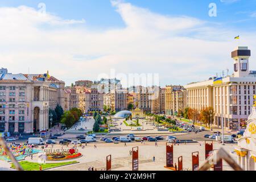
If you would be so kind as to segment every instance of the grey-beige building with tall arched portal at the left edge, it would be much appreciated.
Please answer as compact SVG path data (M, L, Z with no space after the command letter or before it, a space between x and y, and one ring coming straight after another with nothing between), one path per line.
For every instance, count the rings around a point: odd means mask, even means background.
M0 132L34 133L48 129L49 109L64 107L63 81L46 74L0 74Z

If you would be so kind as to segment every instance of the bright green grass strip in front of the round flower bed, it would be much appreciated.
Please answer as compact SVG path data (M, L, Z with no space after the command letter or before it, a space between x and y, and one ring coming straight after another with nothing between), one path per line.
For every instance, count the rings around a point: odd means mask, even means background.
M50 164L41 164L41 165L42 165L42 169L48 169L48 168L52 168L52 167L60 167L60 166L64 166L67 164L75 164L75 163L77 163L77 162L71 161L71 162L65 162L65 163L50 163ZM24 171L39 171L39 167L40 167L39 163L31 163L28 161L22 161L22 162L19 162L19 164L20 164L20 166L22 166ZM15 169L15 166L13 163L11 163L11 168Z

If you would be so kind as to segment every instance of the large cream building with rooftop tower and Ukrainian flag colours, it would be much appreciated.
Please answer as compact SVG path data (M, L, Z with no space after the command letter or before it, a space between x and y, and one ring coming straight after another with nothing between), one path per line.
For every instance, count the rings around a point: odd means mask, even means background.
M255 72L249 72L250 55L247 47L238 47L232 52L232 76L214 77L185 85L188 106L199 111L212 106L216 113L213 122L215 126L221 127L223 118L225 129L245 129L256 86Z

